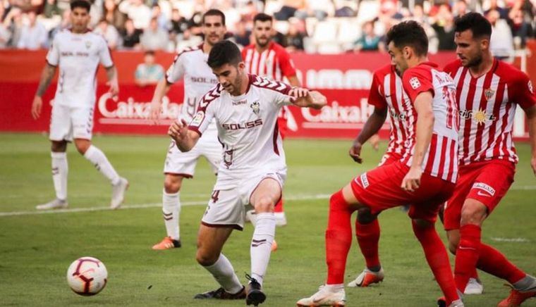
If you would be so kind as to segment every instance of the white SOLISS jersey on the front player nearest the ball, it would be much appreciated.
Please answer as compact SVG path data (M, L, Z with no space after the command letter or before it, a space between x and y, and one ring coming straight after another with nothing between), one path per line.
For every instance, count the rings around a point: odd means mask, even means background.
M218 84L203 96L188 128L202 134L216 120L224 158L214 189L231 189L259 174L286 173L277 114L291 104L290 90L283 82L249 75L243 95L231 96Z

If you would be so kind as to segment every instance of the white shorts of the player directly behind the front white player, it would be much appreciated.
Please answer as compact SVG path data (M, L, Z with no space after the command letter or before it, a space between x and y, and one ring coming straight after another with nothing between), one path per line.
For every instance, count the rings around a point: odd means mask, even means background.
M171 141L164 163L164 174L181 175L186 178L193 177L195 165L200 156L205 156L214 174L218 173L218 166L221 161L221 144L217 137L211 135L203 136L199 139L192 150L180 151L175 142Z

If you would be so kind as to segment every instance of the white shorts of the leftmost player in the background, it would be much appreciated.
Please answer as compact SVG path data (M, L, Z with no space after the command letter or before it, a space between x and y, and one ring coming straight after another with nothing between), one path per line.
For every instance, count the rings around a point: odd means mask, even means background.
M92 130L93 107L52 106L49 135L52 141L91 139Z

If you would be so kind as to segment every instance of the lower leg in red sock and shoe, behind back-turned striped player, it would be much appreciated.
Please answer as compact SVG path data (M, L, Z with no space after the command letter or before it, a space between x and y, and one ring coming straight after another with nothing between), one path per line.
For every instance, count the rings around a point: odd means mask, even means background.
M365 258L366 268L348 287L368 287L384 280L384 271L379 263L379 223L377 215L370 213L370 208L360 208L355 218L355 237Z

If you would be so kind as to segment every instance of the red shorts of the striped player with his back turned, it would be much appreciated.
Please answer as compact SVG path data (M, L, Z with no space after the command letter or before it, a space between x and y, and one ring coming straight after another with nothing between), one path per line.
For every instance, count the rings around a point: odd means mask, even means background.
M352 180L353 194L359 203L370 208L372 214L396 206L410 205L410 218L434 223L439 208L451 196L454 184L423 173L419 189L406 192L401 184L408 170L409 167L400 161L374 168Z

